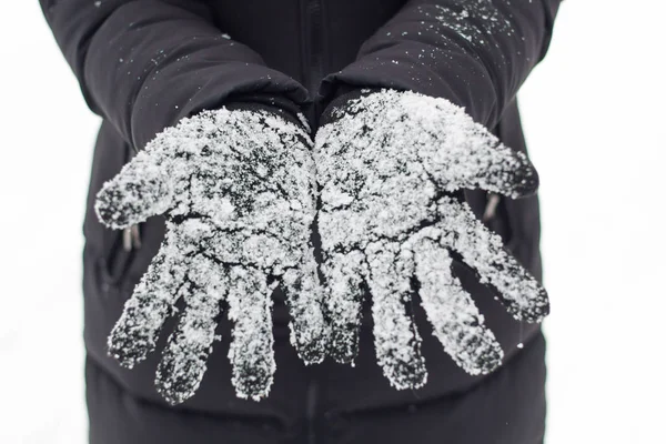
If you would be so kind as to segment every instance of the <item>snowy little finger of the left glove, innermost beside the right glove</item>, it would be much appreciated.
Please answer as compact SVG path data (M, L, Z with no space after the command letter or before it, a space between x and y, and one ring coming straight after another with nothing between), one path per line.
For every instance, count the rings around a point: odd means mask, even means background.
M284 273L283 283L291 315L291 342L305 364L320 363L326 353L327 325L312 249L304 254L301 269Z

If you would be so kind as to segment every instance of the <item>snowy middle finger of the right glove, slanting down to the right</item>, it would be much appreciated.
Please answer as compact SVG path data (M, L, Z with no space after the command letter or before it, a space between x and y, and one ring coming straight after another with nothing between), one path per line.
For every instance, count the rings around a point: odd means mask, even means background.
M504 353L484 324L474 301L451 272L448 252L430 239L415 248L416 278L423 309L444 351L465 372L487 374Z

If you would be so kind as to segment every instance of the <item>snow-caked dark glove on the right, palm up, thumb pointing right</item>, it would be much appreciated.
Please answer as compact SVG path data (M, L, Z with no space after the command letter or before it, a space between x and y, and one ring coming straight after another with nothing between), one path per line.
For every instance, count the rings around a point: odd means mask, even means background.
M446 353L471 374L488 373L503 351L452 274L452 258L493 286L516 320L541 321L548 299L457 198L462 189L531 194L536 171L444 99L392 90L359 95L334 102L315 138L330 353L353 362L366 289L384 375L396 389L425 384L410 306L418 293Z

